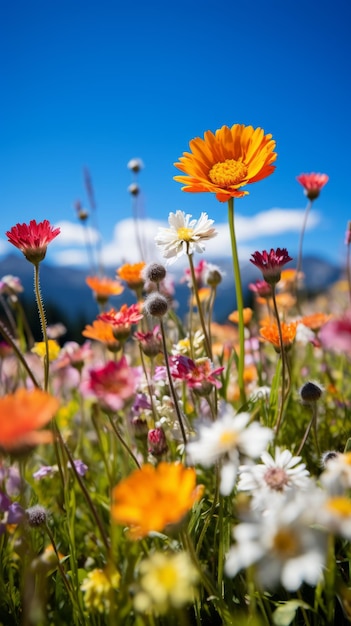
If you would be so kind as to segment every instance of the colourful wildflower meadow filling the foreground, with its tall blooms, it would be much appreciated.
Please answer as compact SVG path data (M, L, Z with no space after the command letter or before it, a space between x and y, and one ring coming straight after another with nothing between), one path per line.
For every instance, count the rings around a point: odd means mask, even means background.
M243 285L234 202L244 210L250 185L274 175L275 141L234 124L188 149L180 202L211 193L228 210L224 323L206 213L170 213L154 260L136 219L140 261L86 278L97 316L80 342L46 320L40 268L60 229L32 219L6 233L33 266L42 336L21 277L2 277L2 626L351 623L351 229L345 279L306 297L304 232L328 176L297 176L298 253L284 241L252 250L257 280ZM137 203L142 163L128 167ZM76 208L84 228L89 211ZM182 316L169 280L181 257Z

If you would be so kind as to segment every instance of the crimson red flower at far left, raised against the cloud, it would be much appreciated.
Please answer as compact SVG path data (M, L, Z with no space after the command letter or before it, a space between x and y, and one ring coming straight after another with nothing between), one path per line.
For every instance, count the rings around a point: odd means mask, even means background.
M31 263L37 265L45 258L46 249L50 241L60 234L59 228L53 228L48 220L37 222L31 220L29 224L16 224L8 230L8 241L21 250Z

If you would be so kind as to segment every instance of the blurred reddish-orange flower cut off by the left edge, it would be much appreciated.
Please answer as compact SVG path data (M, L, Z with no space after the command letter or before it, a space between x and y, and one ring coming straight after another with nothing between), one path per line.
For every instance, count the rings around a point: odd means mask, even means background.
M51 432L37 429L51 420L59 404L40 389L21 388L0 398L0 448L15 451L51 441Z

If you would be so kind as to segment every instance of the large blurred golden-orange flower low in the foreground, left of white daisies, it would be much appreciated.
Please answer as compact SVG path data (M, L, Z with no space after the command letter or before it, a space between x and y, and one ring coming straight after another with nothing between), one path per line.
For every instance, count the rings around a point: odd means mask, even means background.
M179 522L201 495L193 468L181 463L146 464L114 488L112 517L130 526L131 537L139 539Z

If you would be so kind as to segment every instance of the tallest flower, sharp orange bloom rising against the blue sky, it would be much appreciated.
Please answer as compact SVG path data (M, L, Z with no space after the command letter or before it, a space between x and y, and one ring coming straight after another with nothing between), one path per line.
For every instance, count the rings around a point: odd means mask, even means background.
M184 152L174 164L186 176L174 180L185 184L183 191L210 191L221 202L247 195L241 187L266 178L275 169L275 141L262 128L222 126L215 134L208 130L204 139L192 139L189 146L191 152Z

